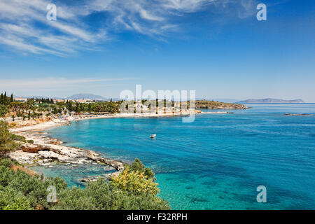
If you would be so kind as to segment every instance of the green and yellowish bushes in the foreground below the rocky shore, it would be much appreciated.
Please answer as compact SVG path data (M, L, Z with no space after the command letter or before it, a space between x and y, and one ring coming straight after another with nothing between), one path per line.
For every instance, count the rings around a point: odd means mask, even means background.
M157 196L153 177L142 172L139 160L111 181L98 179L85 189L67 188L59 177L45 179L20 170L14 172L10 169L13 165L16 163L0 158L0 209L169 209L167 201ZM56 188L55 203L47 202L48 186Z

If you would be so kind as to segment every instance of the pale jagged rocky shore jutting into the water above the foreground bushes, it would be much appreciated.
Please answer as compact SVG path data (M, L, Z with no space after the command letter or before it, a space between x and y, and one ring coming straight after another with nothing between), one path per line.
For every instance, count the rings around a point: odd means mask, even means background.
M62 141L45 137L41 132L36 130L36 127L34 127L34 129L35 130L33 130L33 132L30 132L30 130L11 130L14 134L25 137L27 140L27 143L22 144L17 151L8 153L10 158L17 160L20 164L39 165L52 168L52 164L55 164L55 162L73 165L88 165L92 162L98 162L116 169L116 172L104 174L104 176L102 176L103 179L109 179L112 175L118 175L125 168L123 162L103 158L98 153L83 148L63 146ZM94 181L98 177L99 176L94 176L92 178L88 178L88 180L80 180L82 182Z

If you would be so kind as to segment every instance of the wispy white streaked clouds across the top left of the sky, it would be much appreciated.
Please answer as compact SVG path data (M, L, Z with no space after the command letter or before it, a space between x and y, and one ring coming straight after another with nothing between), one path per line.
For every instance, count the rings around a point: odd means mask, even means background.
M57 0L57 21L48 21L48 0L0 0L0 44L22 52L64 57L96 49L111 39L113 31L127 29L155 38L167 36L169 31L179 30L174 18L208 8L237 6L239 18L246 18L254 9L253 1L89 0L66 5L66 1ZM106 13L106 26L87 22L94 13Z

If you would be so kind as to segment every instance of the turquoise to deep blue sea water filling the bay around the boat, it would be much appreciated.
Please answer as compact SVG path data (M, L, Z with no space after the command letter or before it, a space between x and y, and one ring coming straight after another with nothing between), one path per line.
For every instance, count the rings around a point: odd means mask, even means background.
M68 146L130 162L157 174L172 209L315 209L315 104L248 104L233 114L81 120L48 130ZM232 111L232 110L229 110ZM150 134L157 134L150 139ZM108 167L105 167L107 169ZM36 167L69 186L104 167ZM258 186L267 203L258 203Z

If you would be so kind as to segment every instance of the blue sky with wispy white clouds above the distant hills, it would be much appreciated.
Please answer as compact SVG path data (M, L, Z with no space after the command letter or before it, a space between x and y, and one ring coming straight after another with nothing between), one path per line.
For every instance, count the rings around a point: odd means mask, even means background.
M57 20L48 20L55 3ZM258 21L258 3L267 20ZM0 92L315 102L315 2L0 0Z

